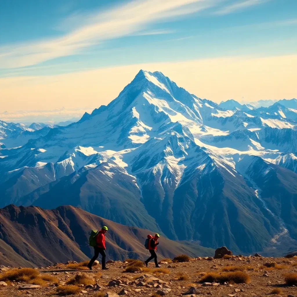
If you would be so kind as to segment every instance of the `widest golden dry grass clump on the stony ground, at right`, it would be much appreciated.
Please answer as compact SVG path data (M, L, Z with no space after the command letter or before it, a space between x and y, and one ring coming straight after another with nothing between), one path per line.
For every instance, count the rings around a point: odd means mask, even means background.
M208 272L200 279L200 282L235 282L236 284L247 284L249 281L249 275L243 271L223 272L222 274L218 274L217 272Z

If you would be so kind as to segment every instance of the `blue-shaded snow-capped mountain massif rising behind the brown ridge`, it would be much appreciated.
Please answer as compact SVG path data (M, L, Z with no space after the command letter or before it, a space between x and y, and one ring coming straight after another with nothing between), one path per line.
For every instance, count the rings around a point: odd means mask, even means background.
M297 100L219 105L141 70L66 127L6 133L0 207L60 205L235 253L297 249Z

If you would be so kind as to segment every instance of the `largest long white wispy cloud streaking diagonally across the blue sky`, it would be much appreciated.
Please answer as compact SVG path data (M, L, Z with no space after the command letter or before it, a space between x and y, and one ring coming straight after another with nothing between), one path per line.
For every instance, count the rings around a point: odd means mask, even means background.
M164 30L147 31L152 23L189 15L225 4L217 14L260 4L268 0L134 0L89 15L71 15L64 22L68 33L61 37L0 47L0 68L11 69L36 65L50 59L81 53L107 40L143 34L164 34ZM63 24L61 25L63 27ZM72 29L71 29L72 28Z

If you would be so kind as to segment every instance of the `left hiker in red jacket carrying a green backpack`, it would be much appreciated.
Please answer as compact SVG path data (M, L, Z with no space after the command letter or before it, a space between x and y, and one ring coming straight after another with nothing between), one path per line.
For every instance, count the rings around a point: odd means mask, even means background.
M92 265L94 264L95 260L98 258L99 254L102 256L102 269L106 270L108 269L105 266L105 233L108 231L108 228L106 226L103 226L100 231L98 230L92 230L91 235L89 237L89 245L91 247L94 247L94 257L91 259L87 267L92 270Z

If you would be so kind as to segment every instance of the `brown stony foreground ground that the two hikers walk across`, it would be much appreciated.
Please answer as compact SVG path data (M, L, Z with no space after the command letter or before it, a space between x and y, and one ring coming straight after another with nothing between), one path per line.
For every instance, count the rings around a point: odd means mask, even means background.
M112 262L112 261L111 261ZM272 263L272 264L271 264ZM231 256L230 259L196 258L189 262L170 263L164 261L162 268L154 269L153 263L149 268L141 268L140 272L124 272L129 266L128 262L115 261L108 263L109 270L101 270L97 265L92 271L86 267L79 269L73 265L56 264L46 268L34 268L39 272L37 278L51 279L41 282L41 285L28 285L28 282L18 280L0 282L0 296L60 296L62 286L74 277L91 279L89 285L76 284L76 296L90 297L116 297L128 296L226 296L251 297L269 296L275 291L277 296L297 296L297 287L287 285L285 274L297 273L297 257L267 258ZM234 266L234 267L231 267ZM272 267L269 267L272 266ZM16 268L0 268L0 280L9 271ZM204 283L201 279L209 272L219 275L226 270L244 272L249 276L248 283L236 284L234 282ZM78 275L78 276L77 276ZM46 276L46 277L45 277ZM32 283L32 281L31 281ZM35 287L35 288L30 288ZM77 288L75 287L75 288ZM157 295L158 294L158 295Z

